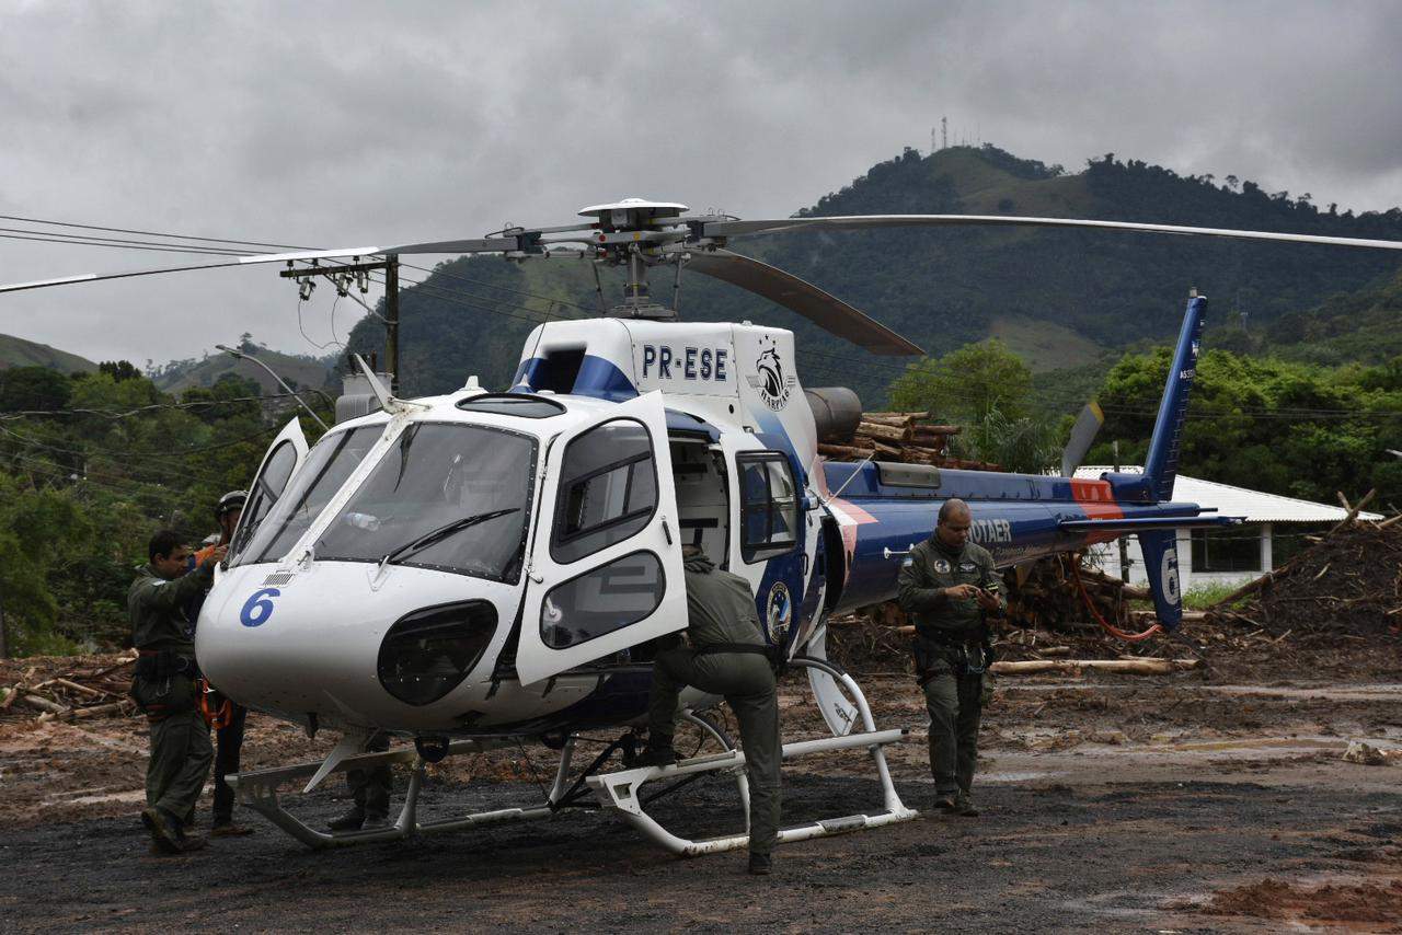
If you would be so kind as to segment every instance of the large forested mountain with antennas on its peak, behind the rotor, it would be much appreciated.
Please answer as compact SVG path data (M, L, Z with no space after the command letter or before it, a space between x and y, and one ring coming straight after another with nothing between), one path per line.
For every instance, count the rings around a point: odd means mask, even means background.
M1398 209L1321 210L1309 195L1267 193L1234 177L1182 177L1113 154L1068 174L993 146L925 157L907 150L798 212L869 213L1044 214L1402 240ZM1190 287L1216 297L1211 328L1232 324L1228 313L1249 300L1252 325L1269 329L1399 269L1385 251L1011 227L777 234L730 247L845 299L932 355L1000 335L1039 371L1103 366L1108 350L1171 339ZM422 278L405 271L405 280ZM606 276L610 303L620 283ZM670 286L672 272L658 271L653 293L667 300ZM805 383L851 385L871 407L904 366L700 275L683 275L680 307L693 320L792 328ZM524 336L547 314L597 314L586 264L478 257L439 265L401 296L404 387L442 393L472 373L505 385ZM1213 339L1209 331L1209 346ZM383 348L383 328L366 318L350 346Z

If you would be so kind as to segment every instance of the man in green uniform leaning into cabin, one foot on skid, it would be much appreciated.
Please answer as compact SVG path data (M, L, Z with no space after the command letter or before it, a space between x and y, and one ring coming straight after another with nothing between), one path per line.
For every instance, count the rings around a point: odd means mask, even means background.
M725 695L740 722L750 779L750 873L773 871L780 831L780 702L750 583L718 571L700 548L681 550L691 646L658 653L648 702L648 746L637 765L676 763L677 698L686 685Z

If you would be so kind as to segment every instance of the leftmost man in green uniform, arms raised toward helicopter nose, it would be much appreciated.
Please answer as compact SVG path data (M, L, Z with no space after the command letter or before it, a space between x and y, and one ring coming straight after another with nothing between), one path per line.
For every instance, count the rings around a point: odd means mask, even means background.
M175 533L161 530L147 544L150 562L137 571L126 594L132 642L140 653L132 697L151 728L142 821L151 833L153 849L161 854L205 845L203 838L185 834L215 751L199 712L195 643L184 608L209 586L224 552L223 547L215 548L186 573L189 548Z

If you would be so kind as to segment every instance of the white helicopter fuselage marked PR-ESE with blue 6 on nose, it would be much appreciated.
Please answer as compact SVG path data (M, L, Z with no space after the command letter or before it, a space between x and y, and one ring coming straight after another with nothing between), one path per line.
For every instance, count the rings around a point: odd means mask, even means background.
M812 635L827 513L792 334L607 318L526 349L510 394L279 436L200 613L213 684L415 736L637 721L646 645L687 622L683 544L750 580L773 642Z

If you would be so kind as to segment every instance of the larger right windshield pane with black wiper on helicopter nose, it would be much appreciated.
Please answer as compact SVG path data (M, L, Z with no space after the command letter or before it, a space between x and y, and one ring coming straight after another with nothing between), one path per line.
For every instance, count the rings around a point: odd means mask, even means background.
M394 555L400 565L516 582L534 468L530 436L416 422L321 534L315 555L365 562Z

